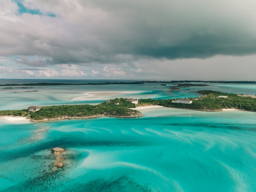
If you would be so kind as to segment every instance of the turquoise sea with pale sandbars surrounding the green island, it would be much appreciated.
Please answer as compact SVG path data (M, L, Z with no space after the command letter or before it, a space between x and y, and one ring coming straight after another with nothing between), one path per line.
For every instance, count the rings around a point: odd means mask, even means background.
M135 80L7 80L93 83ZM98 104L114 98L197 97L196 90L256 94L256 84L209 84L170 91L161 83L0 87L0 110ZM37 92L24 92L33 91ZM0 191L256 191L256 113L173 108L140 118L43 123L0 118ZM52 148L65 148L54 167Z

